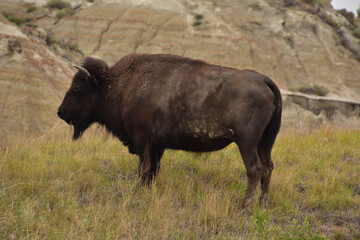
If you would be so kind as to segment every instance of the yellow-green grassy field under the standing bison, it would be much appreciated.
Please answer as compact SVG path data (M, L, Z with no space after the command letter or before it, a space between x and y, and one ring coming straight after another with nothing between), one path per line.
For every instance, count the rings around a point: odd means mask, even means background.
M56 127L0 148L0 239L359 239L360 131L282 131L268 208L242 211L235 145L167 150L155 183L100 130ZM257 198L260 191L257 191Z

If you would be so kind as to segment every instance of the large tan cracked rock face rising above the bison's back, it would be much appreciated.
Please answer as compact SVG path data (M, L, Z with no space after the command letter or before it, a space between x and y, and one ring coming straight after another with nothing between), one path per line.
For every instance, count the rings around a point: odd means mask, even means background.
M317 84L330 96L360 100L359 61L316 15L277 12L261 1L258 7L248 1L102 2L60 20L56 36L76 39L85 55L109 63L132 52L173 53L255 69L283 88ZM195 14L203 17L197 27Z

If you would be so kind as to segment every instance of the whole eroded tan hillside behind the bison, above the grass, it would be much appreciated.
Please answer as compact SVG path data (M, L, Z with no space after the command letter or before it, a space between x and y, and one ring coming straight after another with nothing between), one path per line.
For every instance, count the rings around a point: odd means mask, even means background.
M71 2L0 2L0 139L58 124L83 56L111 65L132 52L264 73L282 89L287 126L359 124L360 24L327 0Z

